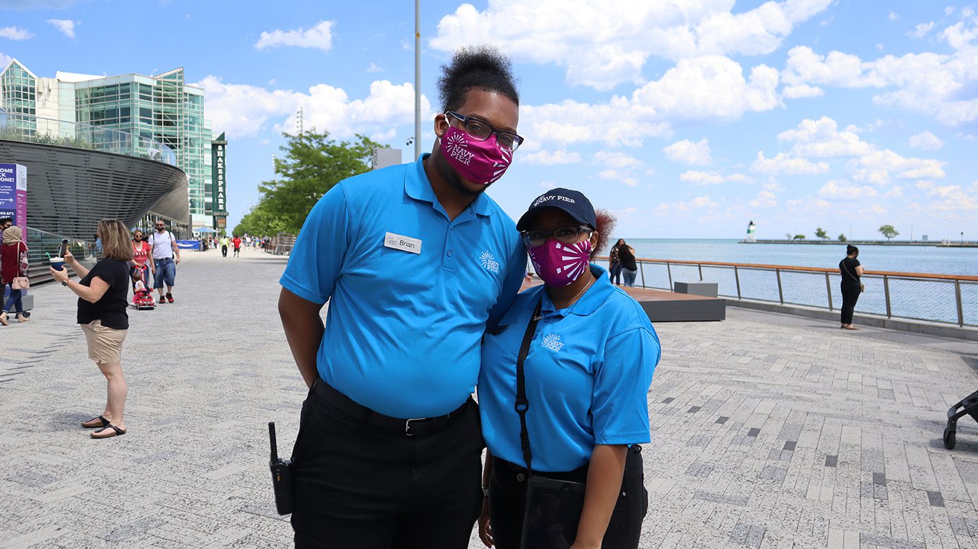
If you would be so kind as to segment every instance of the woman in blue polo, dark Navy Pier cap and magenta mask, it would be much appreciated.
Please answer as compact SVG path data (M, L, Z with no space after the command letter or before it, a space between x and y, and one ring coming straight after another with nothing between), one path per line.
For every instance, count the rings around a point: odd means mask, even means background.
M543 476L585 483L576 538L549 528L544 545L638 547L647 494L637 444L649 441L646 394L660 349L642 306L591 263L608 236L601 225L587 197L567 189L537 198L516 224L545 284L517 296L482 343L487 546L520 546L527 480ZM520 357L525 429L515 405Z

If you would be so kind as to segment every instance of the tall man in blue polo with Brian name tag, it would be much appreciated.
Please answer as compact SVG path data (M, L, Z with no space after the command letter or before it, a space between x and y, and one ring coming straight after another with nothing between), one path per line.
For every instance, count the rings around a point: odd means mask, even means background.
M519 98L495 50L442 69L431 154L339 182L282 276L310 387L292 453L296 547L461 549L481 510L470 395L486 323L525 269L514 223L483 191L522 142Z

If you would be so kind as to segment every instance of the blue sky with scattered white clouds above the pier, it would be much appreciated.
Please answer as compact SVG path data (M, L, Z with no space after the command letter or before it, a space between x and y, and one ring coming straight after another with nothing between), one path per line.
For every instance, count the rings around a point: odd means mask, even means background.
M226 131L233 224L306 126L404 149L413 2L0 0L0 64L41 76L186 69ZM439 67L492 43L526 138L489 193L555 186L621 236L978 238L978 7L859 0L422 0L422 149ZM850 229L851 227L851 229Z

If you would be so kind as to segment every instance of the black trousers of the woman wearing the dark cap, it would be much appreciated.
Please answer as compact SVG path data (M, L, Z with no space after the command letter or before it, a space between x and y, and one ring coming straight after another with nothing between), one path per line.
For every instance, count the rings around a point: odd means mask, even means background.
M641 448L628 450L621 493L611 514L611 522L601 541L602 549L637 549L642 535L642 520L648 510L645 472ZM489 523L497 549L519 549L526 503L526 470L500 458L493 458L489 478ZM540 473L556 480L586 482L588 466L568 473ZM572 539L567 540L572 543Z

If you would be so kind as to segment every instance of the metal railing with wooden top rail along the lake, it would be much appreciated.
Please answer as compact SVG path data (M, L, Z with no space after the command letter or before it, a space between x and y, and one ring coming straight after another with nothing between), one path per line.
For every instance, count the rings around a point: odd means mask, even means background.
M599 260L607 261L606 257ZM636 285L672 291L676 282L717 283L721 297L838 310L838 269L718 261L638 259ZM605 263L606 264L606 263ZM978 276L865 271L856 312L978 327Z

